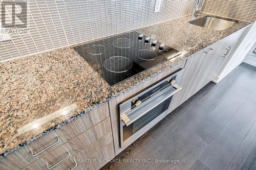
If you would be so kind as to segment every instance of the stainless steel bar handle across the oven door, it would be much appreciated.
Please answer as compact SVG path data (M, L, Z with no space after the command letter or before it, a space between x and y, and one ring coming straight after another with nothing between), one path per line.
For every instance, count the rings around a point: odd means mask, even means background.
M125 113L121 114L120 115L120 119L123 121L123 123L126 125L126 126L129 126L131 125L132 123L135 122L135 120L137 120L138 118L140 118L141 116L143 116L144 114L146 114L148 111L154 109L156 106L158 106L159 104L161 104L163 101L165 101L166 99L168 99L170 96L176 94L178 91L180 91L182 89L182 87L180 87L179 85L177 84L174 84L171 86L171 88L175 88L176 90L168 95L166 95L162 101L156 103L153 107L147 109L146 111L144 111L143 113L141 113L140 115L138 115L137 117L133 118L132 120L129 118L129 116ZM164 92L164 91L163 91Z

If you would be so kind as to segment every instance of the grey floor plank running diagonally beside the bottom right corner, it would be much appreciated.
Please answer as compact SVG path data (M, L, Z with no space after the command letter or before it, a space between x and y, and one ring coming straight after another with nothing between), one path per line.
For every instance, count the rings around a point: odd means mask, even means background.
M209 169L224 169L256 120L256 105L246 101L199 160Z

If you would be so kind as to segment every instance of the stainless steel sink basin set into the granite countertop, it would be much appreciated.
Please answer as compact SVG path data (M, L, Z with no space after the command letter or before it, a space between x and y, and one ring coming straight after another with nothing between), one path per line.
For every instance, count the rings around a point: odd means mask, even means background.
M231 27L234 22L229 21L229 20L206 16L206 17L203 17L200 19L191 20L191 21L189 21L189 23L199 26L199 27L209 29L209 30L221 31L221 30L225 30L225 29Z

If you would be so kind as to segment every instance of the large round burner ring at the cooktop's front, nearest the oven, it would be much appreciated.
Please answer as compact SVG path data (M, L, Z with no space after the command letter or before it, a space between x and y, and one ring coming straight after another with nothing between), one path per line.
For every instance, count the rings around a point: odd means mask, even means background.
M114 56L105 60L103 65L108 71L120 73L131 69L133 62L129 58L123 56Z

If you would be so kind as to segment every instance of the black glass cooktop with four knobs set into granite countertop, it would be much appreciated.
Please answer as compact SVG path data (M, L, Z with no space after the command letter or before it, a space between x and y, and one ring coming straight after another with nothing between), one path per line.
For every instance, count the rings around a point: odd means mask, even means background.
M137 32L76 46L75 50L110 85L181 54L154 40L154 35Z

